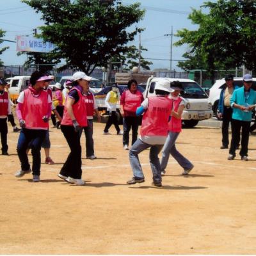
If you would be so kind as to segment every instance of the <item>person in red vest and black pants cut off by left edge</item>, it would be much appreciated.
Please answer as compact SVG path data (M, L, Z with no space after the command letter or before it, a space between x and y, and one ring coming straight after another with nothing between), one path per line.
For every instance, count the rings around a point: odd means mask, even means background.
M7 145L7 116L12 114L11 102L9 99L8 92L5 92L4 87L7 82L0 78L0 133L2 143L2 155L8 156L8 145Z

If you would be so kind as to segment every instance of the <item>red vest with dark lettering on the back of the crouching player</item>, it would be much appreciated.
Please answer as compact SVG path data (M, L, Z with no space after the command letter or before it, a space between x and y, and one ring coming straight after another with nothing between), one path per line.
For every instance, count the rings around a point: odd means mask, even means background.
M149 97L148 109L142 118L141 136L167 136L171 107L172 102L168 97Z

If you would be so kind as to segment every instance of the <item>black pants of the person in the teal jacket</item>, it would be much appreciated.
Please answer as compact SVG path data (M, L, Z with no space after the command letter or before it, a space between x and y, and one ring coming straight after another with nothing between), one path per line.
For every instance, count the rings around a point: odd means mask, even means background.
M242 139L241 139L241 150L239 152L240 156L248 156L248 143L250 136L250 124L249 121L240 121L236 119L232 119L231 128L232 128L232 140L230 145L229 154L236 156L236 146L240 140L240 131L242 128Z

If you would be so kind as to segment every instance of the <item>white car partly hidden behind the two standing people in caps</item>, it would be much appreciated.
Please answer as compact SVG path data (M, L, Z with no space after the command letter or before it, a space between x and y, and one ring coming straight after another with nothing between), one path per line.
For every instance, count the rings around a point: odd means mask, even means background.
M225 85L225 79L216 80L216 82L212 85L210 90L208 91L209 99L212 104L212 111L213 114L217 114L218 104L220 100L220 92L223 86ZM234 77L234 85L235 86L243 86L243 77ZM253 78L253 85L254 88L256 87L256 78ZM216 115L218 117L218 115Z

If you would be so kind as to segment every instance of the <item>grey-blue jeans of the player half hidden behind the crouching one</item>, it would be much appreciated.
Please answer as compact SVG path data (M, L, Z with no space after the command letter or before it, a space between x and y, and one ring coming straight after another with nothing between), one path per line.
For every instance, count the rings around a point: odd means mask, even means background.
M177 140L179 134L179 132L168 132L168 137L164 143L162 152L162 171L164 171L168 164L170 154L184 170L190 170L191 168L193 168L193 164L188 159L186 159L186 157L182 156L182 154L180 154L180 152L175 147L175 141Z

